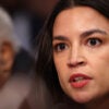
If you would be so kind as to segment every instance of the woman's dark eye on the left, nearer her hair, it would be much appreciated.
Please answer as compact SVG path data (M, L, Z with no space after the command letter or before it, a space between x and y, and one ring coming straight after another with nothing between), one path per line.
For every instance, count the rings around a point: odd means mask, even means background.
M61 51L68 49L68 45L64 44L64 43L56 44L56 45L53 46L53 49L55 49L55 51L57 51L57 52L61 52Z

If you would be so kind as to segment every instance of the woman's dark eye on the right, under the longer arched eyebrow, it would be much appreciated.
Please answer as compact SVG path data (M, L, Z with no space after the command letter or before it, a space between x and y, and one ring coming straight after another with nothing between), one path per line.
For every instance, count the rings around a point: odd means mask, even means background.
M101 40L99 38L89 38L87 45L90 47L100 46Z

